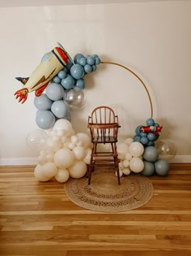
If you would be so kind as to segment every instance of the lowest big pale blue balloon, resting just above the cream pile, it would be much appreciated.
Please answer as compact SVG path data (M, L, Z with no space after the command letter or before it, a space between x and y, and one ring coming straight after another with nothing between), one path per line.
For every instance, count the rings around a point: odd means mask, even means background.
M53 128L55 120L55 116L51 111L38 111L36 115L36 124L44 130Z

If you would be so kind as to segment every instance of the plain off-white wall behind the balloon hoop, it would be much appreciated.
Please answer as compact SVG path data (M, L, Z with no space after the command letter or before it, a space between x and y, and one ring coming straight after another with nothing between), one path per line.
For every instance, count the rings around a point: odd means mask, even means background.
M37 128L34 94L18 103L15 76L30 76L57 41L73 57L96 53L137 73L151 94L153 117L163 125L160 138L174 141L177 161L191 162L190 13L190 1L0 8L0 164L36 162L37 154L26 145ZM71 111L76 132L88 132L87 116L100 104L117 111L121 140L133 137L151 116L145 89L125 69L101 64L85 79L86 106Z

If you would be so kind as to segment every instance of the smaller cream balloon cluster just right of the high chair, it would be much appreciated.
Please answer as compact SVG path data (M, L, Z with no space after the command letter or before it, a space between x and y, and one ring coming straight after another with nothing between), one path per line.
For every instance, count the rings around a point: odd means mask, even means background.
M134 141L132 138L124 142L117 143L117 154L119 163L120 176L129 175L131 171L140 172L144 167L142 154L144 147L142 143Z

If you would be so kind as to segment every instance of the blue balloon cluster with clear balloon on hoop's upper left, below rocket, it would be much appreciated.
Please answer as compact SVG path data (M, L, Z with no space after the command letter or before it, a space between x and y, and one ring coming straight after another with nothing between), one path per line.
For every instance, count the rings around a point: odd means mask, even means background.
M84 106L85 81L83 76L96 71L100 64L97 54L84 57L83 54L74 56L74 64L69 62L67 67L57 73L49 83L45 93L34 98L37 108L36 124L41 129L53 128L57 119L71 120L70 109L80 109Z

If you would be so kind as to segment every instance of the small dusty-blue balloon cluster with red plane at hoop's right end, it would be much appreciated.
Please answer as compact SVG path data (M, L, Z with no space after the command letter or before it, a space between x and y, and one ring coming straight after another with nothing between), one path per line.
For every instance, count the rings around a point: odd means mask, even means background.
M159 132L162 130L162 126L155 123L155 120L150 118L146 119L146 126L138 125L135 129L134 141L141 142L142 145L155 145L155 142L159 138Z

